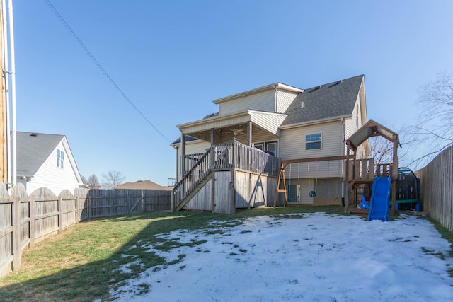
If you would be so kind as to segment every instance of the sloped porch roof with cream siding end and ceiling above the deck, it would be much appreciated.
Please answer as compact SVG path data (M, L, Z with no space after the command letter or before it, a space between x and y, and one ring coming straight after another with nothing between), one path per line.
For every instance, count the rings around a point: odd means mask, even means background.
M217 115L195 122L179 124L177 127L183 134L204 141L210 141L211 129L214 129L214 143L219 143L222 142L222 134L231 132L231 129L242 129L246 133L248 122L252 122L253 129L258 127L280 136L279 127L285 117L287 115L281 113L246 110L231 115Z

